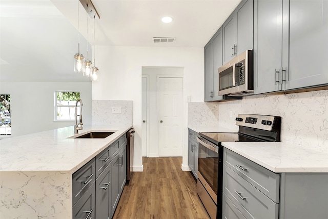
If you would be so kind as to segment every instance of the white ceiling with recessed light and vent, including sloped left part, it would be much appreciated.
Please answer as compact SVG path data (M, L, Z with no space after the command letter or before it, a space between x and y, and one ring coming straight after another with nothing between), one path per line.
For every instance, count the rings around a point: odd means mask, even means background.
M203 47L241 0L92 0L96 45ZM0 0L1 81L87 82L73 72L77 26L86 50L86 11L77 0ZM161 17L171 16L165 24ZM88 41L93 21L88 17ZM83 37L85 36L85 38ZM176 37L153 43L153 37ZM90 46L89 46L90 48ZM85 51L81 51L86 56Z

